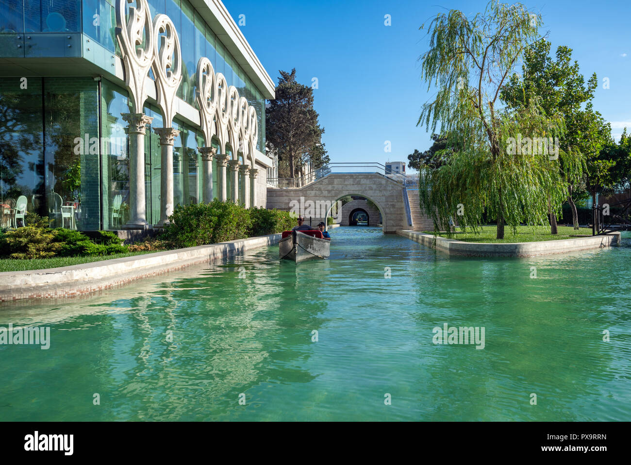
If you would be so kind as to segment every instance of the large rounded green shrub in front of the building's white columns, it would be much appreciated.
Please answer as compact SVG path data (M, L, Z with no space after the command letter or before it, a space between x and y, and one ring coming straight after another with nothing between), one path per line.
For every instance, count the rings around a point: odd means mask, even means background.
M234 241L246 238L250 231L248 211L220 200L179 205L169 220L162 237L177 248Z

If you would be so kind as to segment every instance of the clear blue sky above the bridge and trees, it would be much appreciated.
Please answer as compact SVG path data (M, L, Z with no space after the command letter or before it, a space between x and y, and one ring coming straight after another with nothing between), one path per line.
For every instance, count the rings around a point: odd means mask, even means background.
M418 28L440 11L484 11L486 1L266 1L225 0L269 75L297 70L298 81L311 85L315 109L326 133L333 162L407 161L415 148L430 146L430 135L417 127L423 103L431 94L420 80L418 57L428 47ZM572 57L599 87L594 108L612 123L618 138L631 130L631 28L628 3L622 1L526 1L541 13L542 33L549 31L551 51L573 49ZM391 26L384 16L391 15ZM626 55L625 55L626 54ZM517 71L521 66L517 67ZM603 88L603 78L610 88ZM626 124L625 124L626 123ZM390 153L384 152L391 141Z

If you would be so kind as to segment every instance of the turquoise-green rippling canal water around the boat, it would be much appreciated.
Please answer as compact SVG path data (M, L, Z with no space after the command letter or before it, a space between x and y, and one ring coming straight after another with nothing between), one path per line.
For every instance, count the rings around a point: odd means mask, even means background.
M270 247L0 306L0 326L50 327L48 350L0 346L0 420L631 418L630 236L517 260L366 227L331 236L326 261L280 263ZM484 327L485 347L433 344L444 323Z

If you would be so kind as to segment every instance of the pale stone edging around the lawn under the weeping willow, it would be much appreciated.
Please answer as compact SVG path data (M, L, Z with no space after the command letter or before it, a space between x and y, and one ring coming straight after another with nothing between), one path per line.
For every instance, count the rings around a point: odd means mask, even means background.
M463 242L410 230L399 230L397 234L425 246L435 247L449 255L465 257L535 257L620 245L620 231L583 238L506 244Z

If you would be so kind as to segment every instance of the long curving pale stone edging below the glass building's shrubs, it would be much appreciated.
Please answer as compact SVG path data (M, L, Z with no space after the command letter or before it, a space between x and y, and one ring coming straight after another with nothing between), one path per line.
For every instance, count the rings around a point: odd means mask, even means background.
M143 277L215 262L247 250L278 243L281 234L168 250L69 267L0 273L0 302L71 297L122 286Z

